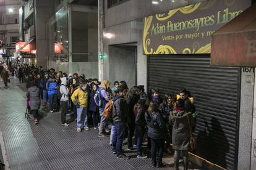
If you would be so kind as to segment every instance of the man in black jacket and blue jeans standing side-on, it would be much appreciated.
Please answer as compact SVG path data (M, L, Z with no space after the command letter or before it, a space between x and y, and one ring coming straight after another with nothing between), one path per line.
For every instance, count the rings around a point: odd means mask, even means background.
M116 129L113 136L113 153L117 154L118 159L128 160L129 156L122 153L124 132L126 124L129 123L129 108L125 99L128 90L124 86L119 86L117 91L119 93L113 99L113 122Z

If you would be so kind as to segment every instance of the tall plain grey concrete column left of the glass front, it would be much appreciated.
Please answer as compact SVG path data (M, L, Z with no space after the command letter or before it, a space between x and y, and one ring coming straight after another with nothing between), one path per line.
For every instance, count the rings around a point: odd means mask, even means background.
M54 15L54 1L35 0L36 60L38 65L47 67L46 22Z

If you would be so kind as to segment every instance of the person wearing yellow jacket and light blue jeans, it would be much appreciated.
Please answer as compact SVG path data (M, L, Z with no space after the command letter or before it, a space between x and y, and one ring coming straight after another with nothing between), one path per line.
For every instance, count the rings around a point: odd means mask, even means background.
M82 129L89 130L87 122L88 92L87 82L80 84L71 96L72 102L77 106L77 132Z

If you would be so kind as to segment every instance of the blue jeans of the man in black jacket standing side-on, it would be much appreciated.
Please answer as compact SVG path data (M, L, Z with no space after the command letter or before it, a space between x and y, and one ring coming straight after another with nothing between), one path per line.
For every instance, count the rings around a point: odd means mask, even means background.
M116 127L116 132L113 136L113 152L117 152L117 156L122 154L122 142L124 140L124 132L126 129L126 124L122 122L114 123Z

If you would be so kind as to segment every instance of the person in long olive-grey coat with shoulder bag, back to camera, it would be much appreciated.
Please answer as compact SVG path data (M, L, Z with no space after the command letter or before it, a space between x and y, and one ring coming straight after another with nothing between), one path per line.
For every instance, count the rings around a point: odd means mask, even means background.
M190 131L195 125L192 113L187 112L184 107L184 100L178 99L175 103L174 110L171 111L169 116L169 124L173 126L173 149L174 152L174 166L175 169L179 169L179 157L183 156L184 169L188 169L189 164L189 142L190 142ZM190 129L189 129L190 128Z

